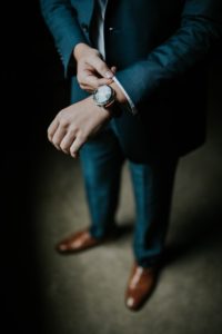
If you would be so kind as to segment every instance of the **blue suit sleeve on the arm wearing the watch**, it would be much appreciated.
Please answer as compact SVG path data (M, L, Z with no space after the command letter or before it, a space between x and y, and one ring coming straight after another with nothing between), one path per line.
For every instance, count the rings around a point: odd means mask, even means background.
M145 59L117 72L135 107L191 69L222 37L221 0L185 0L181 26Z

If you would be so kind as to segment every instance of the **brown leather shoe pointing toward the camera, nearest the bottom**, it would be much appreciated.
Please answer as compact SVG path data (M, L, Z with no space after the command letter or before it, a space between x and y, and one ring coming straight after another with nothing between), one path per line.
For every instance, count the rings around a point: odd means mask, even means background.
M151 295L157 282L157 271L139 266L132 267L125 291L125 305L131 311L138 311Z

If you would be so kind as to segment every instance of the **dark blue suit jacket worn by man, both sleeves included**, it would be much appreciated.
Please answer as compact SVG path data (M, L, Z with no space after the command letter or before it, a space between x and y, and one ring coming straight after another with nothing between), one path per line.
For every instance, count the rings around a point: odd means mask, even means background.
M41 0L41 10L71 77L72 102L88 95L78 86L72 50L91 45L93 0ZM129 159L181 156L205 139L206 60L222 37L221 0L109 0L107 62L117 66L139 112L123 110L114 129Z

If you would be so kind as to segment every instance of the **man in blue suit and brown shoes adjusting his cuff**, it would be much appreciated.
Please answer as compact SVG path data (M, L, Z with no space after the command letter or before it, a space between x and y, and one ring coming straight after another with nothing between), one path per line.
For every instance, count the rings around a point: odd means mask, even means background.
M125 304L139 310L157 282L180 156L205 138L205 65L222 36L220 0L41 0L71 78L72 105L49 140L82 163L91 226L62 240L78 253L117 230L121 166L137 204Z

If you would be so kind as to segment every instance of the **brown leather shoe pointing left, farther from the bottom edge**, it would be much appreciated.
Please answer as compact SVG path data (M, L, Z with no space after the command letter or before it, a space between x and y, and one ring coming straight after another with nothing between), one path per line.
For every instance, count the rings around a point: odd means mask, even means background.
M60 254L74 254L102 243L102 239L92 237L88 229L79 230L60 242L56 249Z

